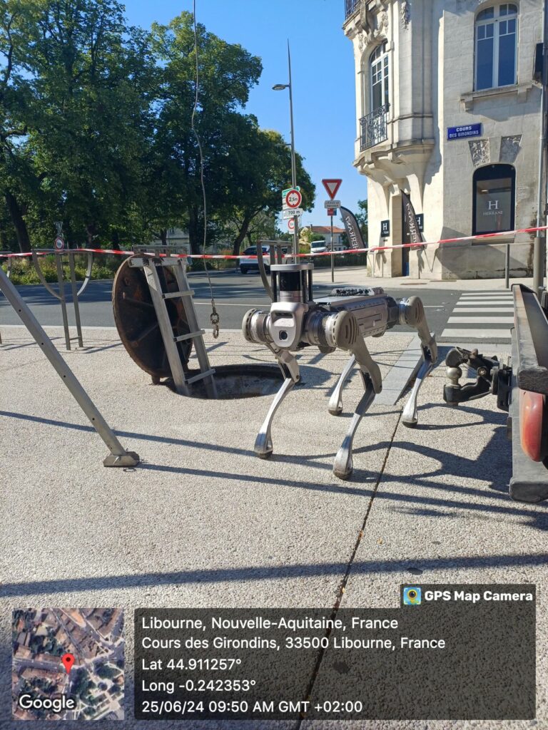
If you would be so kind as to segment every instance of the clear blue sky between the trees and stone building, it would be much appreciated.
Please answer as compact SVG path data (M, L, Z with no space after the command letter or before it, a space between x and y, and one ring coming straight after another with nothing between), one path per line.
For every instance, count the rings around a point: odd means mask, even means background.
M338 198L351 210L367 196L365 177L352 166L356 137L354 59L342 31L343 0L197 0L196 15L208 31L240 43L262 58L259 84L246 111L260 126L277 129L289 142L289 94L272 91L287 82L287 40L291 45L295 147L316 185L316 205L302 225L326 226L321 179L341 177ZM168 23L191 0L127 0L130 23L149 28ZM297 181L298 183L298 181Z

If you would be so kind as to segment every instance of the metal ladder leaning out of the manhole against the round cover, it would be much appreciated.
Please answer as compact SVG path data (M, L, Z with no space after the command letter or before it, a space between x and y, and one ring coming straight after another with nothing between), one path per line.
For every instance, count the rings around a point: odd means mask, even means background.
M205 380L205 388L210 398L217 397L215 384L215 369L210 366L208 352L205 349L204 338L205 330L199 329L196 310L194 309L194 301L192 295L194 291L189 287L186 278L186 261L183 258L175 258L169 254L160 256L156 253L138 252L136 256L129 259L129 266L141 268L145 273L145 279L151 292L151 300L156 311L158 324L161 332L161 339L164 341L166 348L167 361L170 364L173 383L175 390L185 396L190 394L189 385L197 383L199 380ZM158 269L161 267L169 267L177 282L178 291L164 291L162 280ZM169 312L166 307L167 299L180 299L185 310L186 321L189 324L190 332L175 336L170 320ZM194 341L194 349L199 364L199 373L190 374L186 368L178 348L178 342L192 339Z

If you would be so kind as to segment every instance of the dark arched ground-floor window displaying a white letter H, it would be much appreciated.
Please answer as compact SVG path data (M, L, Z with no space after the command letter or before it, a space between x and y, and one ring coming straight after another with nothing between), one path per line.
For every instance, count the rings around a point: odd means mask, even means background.
M514 230L516 171L511 165L487 165L473 174L472 235Z

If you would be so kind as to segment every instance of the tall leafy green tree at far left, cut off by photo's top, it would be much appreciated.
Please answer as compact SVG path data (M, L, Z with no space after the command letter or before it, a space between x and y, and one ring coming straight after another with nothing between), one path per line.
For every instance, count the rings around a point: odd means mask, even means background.
M123 227L142 196L155 72L148 37L126 26L115 0L11 5L0 28L7 210L23 250L28 228L47 240L54 220L90 244Z

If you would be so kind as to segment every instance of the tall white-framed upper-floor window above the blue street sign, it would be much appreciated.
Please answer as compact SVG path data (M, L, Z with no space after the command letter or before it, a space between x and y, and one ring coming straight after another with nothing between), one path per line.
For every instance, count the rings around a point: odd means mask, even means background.
M476 17L476 90L515 84L517 5L488 7Z

